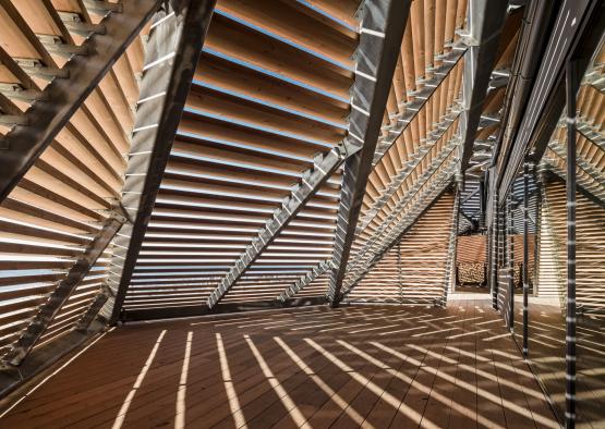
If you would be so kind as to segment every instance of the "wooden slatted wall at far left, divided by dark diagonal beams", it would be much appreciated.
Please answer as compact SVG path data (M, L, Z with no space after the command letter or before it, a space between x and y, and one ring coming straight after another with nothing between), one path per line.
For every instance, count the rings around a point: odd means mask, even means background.
M61 71L70 52L81 52L88 35L83 28L102 24L99 10L83 4L0 3L0 134L10 131L7 114L24 112L52 78L66 78ZM120 199L143 60L137 38L0 205L0 354L19 339ZM109 247L39 344L68 332L82 317L107 278L110 255Z

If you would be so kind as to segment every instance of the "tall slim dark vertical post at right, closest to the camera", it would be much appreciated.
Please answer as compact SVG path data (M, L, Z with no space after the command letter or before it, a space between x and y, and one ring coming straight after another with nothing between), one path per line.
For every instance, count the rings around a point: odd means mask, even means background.
M576 64L567 63L567 317L565 427L576 427Z

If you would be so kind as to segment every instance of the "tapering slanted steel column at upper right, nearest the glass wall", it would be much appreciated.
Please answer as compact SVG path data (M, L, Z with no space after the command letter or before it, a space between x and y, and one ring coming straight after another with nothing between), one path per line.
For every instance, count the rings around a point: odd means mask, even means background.
M470 0L468 13L469 49L464 54L462 94L464 111L460 121L462 157L460 171L465 171L473 152L473 143L482 119L492 71L496 63L500 33L507 16L507 1Z

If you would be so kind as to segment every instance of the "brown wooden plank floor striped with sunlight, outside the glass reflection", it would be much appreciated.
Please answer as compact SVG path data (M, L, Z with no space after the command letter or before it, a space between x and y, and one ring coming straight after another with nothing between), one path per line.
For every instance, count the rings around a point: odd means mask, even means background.
M488 296L453 297L121 327L0 427L558 427Z

